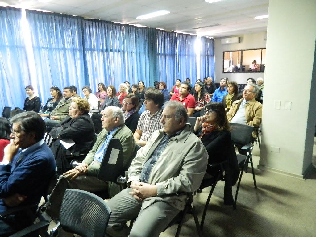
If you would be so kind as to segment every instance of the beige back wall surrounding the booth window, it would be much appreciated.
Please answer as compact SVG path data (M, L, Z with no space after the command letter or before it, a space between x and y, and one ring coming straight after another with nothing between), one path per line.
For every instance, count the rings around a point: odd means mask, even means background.
M265 48L266 41L264 40L266 32L245 34L245 35L234 35L231 37L240 37L240 43L231 45L222 45L221 39L217 38L214 41L215 51L215 82L219 83L221 78L228 77L229 81L246 84L246 80L249 77L257 79L258 77L264 78L263 72L253 73L222 73L223 72L223 52L231 50L244 50L244 49L258 49ZM228 37L224 37L228 38Z

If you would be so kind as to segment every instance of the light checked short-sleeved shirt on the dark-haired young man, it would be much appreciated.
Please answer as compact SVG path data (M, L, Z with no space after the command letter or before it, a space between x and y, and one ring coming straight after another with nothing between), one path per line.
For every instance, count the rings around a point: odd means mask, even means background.
M162 108L154 113L154 115L151 115L148 110L142 113L137 125L137 130L142 131L142 137L139 141L147 142L154 131L162 128L162 124L160 123L161 117Z

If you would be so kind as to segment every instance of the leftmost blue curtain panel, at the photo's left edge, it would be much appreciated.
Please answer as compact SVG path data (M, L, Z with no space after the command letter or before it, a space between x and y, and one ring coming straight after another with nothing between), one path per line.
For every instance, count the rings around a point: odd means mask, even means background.
M21 9L0 7L0 116L5 106L23 108L30 85Z

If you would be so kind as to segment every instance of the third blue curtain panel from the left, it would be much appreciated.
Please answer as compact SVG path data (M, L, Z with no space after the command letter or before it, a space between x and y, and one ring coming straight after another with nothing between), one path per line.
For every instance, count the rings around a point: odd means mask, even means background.
M93 91L99 82L106 86L119 84L126 79L123 25L98 20L83 24L85 56L88 76Z

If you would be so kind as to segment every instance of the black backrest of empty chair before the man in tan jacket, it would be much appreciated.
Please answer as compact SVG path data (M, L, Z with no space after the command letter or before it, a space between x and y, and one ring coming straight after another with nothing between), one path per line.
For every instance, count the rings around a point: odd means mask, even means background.
M229 123L231 128L232 140L234 143L246 145L251 142L253 126L246 124Z

